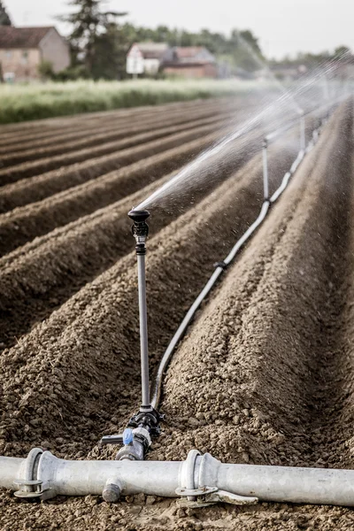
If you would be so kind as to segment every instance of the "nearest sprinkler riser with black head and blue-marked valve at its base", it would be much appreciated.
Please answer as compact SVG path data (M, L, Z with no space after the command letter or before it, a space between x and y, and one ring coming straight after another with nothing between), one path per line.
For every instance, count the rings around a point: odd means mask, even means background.
M146 219L149 218L150 212L132 210L128 212L128 216L133 220L132 234L135 237L135 251L138 263L142 405L139 412L129 420L128 427L122 435L106 435L101 439L101 444L123 444L124 446L119 450L116 457L119 460L142 460L151 444L150 435L160 434L158 423L162 419L162 415L152 407L149 390L145 255L146 240L149 235L149 226L146 223Z

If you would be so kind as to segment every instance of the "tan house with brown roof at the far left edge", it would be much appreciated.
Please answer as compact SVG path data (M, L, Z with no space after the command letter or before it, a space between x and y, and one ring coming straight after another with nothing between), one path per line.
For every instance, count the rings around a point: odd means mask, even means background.
M56 73L70 65L69 45L55 27L0 27L4 81L39 79L42 61L49 61Z

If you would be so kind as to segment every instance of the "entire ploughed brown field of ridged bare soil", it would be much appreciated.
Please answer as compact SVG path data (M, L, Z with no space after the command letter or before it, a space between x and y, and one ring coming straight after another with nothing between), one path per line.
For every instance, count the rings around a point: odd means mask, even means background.
M114 458L116 448L97 442L140 405L127 212L254 104L223 98L3 127L0 455L43 446L58 457ZM354 468L353 140L348 101L176 351L151 459L197 448L226 462ZM151 211L152 373L213 264L258 215L254 146L257 133L192 197ZM293 142L269 150L271 192L296 153ZM142 495L24 504L3 493L0 527L351 529L354 513L291 504L183 510Z

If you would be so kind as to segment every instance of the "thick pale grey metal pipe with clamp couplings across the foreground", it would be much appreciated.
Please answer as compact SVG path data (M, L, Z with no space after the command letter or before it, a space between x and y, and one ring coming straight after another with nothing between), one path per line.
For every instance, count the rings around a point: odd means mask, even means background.
M25 477L26 476L26 477ZM189 507L218 502L354 505L354 470L224 464L190 450L185 461L67 461L34 448L27 458L0 457L0 488L15 496L180 497Z

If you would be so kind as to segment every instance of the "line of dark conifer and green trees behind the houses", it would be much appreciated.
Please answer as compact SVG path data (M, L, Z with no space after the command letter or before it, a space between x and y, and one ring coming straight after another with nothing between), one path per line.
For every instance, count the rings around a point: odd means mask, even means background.
M155 29L135 27L128 22L121 22L126 12L104 11L103 0L72 0L69 5L75 11L61 15L58 19L72 27L68 36L72 66L59 76L124 79L127 77L127 51L133 42L204 46L219 61L248 71L259 68L258 61L263 58L258 39L250 30L235 29L226 36L208 29L193 33L166 26Z

